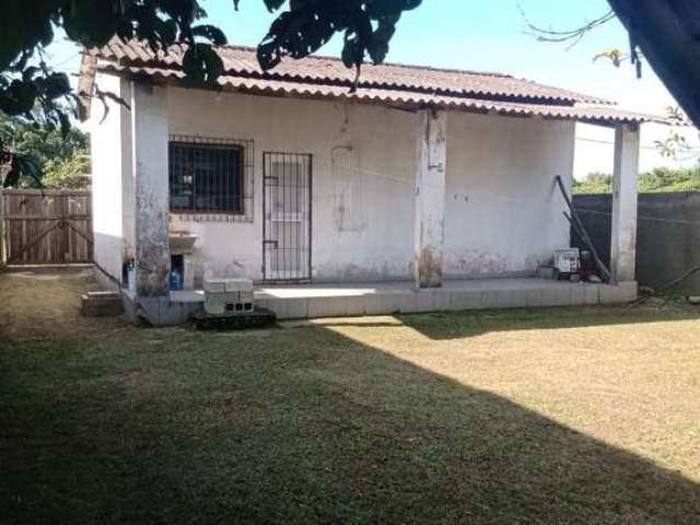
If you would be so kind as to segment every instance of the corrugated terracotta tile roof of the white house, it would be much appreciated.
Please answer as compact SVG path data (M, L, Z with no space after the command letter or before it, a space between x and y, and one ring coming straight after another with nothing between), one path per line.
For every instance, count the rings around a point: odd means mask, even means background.
M599 98L499 73L397 65L364 66L360 86L351 92L349 86L354 72L337 59L290 59L266 73L259 68L252 48L224 46L218 50L226 71L219 79L219 84L244 93L348 100L401 107L434 106L595 124L668 122L661 117L600 105L605 101ZM185 77L180 67L183 51L182 46L175 46L167 55L155 55L141 43L113 40L106 47L89 52L100 59L98 69L102 71L145 74L178 83Z

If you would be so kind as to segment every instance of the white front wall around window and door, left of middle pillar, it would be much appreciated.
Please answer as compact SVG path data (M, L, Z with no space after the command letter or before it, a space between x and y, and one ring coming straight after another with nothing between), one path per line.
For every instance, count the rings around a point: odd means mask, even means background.
M313 277L409 278L416 116L377 106L172 90L171 133L255 141L253 223L174 219L199 235L198 273L261 279L262 154L313 155ZM347 147L352 151L348 152ZM350 166L348 165L350 164ZM352 173L347 173L351 167ZM350 177L350 188L348 188ZM353 194L340 217L341 191Z

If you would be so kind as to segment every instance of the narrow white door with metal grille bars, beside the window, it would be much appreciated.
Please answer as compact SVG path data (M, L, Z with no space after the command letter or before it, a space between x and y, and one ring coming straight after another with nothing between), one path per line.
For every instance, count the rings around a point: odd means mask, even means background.
M262 260L266 281L311 279L312 156L264 155Z

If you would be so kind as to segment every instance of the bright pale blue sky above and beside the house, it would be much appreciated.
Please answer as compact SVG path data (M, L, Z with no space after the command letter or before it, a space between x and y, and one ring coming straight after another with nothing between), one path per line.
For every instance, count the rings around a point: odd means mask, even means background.
M232 44L255 46L265 35L272 15L262 0L241 0L238 12L232 0L203 0L210 22L220 26ZM495 71L598 95L621 107L665 115L676 106L663 83L646 66L637 79L629 63L616 68L608 60L593 58L605 50L628 49L628 37L614 20L590 33L579 44L541 43L528 34L527 21L537 26L567 30L579 27L609 10L606 0L423 0L421 7L404 14L398 24L387 61L433 67ZM338 36L324 47L323 55L339 55ZM54 65L74 73L77 49L60 42L51 49ZM642 131L641 170L678 163L664 160L654 145L668 133L664 126L646 125ZM695 129L685 131L698 143ZM612 132L580 125L576 132L576 178L587 173L612 170Z

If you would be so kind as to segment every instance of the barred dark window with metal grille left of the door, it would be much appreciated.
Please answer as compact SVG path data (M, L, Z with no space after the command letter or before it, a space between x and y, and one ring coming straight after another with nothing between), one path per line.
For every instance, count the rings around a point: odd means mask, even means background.
M184 220L253 222L252 140L172 136L171 213Z

